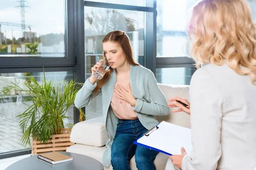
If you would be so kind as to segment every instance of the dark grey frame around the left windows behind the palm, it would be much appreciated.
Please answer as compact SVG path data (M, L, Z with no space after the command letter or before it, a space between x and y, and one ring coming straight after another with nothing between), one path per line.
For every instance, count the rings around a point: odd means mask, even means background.
M73 71L74 79L77 82L84 82L84 74L79 71L82 67L79 62L83 62L84 57L80 57L80 52L84 45L81 45L83 38L78 37L78 32L83 34L79 26L83 26L83 0L64 1L64 24L65 24L65 57L0 57L1 73L24 73L24 72L59 72ZM80 4L80 6L79 6ZM82 11L79 11L79 7ZM82 15L80 14L82 12ZM79 14L81 17L79 17ZM82 24L81 24L82 23ZM79 42L80 41L80 42ZM81 50L84 51L84 50ZM76 63L76 59L78 63ZM78 74L77 74L78 73ZM79 122L79 110L74 109L74 124ZM7 153L0 153L0 159L13 156L21 156L31 153L31 149L15 150Z

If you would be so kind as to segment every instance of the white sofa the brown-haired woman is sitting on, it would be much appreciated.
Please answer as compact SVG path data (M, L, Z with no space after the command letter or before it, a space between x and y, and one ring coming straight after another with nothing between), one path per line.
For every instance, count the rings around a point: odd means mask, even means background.
M189 86L187 85L158 85L166 96L166 99L175 96L189 99ZM166 121L190 128L190 116L184 112L173 113L172 110L174 109L170 108L168 116L156 116L156 119L159 122ZM72 129L70 141L76 144L68 147L67 152L83 154L102 162L102 154L106 148L105 143L108 141L103 117L77 123ZM167 160L168 155L159 153L154 161L156 169L164 170ZM131 170L137 170L135 157L131 159L130 167ZM104 167L104 170L113 170L113 168L110 165L110 167Z

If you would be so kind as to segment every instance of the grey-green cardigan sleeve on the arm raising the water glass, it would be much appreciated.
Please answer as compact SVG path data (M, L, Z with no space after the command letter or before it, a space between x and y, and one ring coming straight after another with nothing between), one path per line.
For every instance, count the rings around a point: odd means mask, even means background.
M76 108L82 108L89 104L94 99L93 90L96 88L97 83L92 85L89 78L84 82L83 87L77 92L74 104Z

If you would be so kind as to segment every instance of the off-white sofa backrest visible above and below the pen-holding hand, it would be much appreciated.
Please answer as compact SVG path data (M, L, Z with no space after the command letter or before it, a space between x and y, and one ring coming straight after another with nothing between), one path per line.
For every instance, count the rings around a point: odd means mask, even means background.
M189 101L189 85L164 85L157 83L166 99L169 100L173 97L181 97ZM173 113L172 111L177 108L170 108L169 115L156 116L159 122L166 121L175 125L190 128L190 116L184 112Z

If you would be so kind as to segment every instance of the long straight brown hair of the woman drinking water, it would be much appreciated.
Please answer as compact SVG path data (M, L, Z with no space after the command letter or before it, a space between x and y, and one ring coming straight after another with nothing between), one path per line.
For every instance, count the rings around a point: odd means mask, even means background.
M105 42L115 42L115 43L119 44L122 48L123 53L125 54L126 59L130 63L130 65L140 65L134 60L134 55L133 55L133 50L131 47L130 39L127 36L127 34L125 34L124 31L116 30L116 31L109 32L103 38L102 44ZM103 52L103 57L106 57L104 52ZM108 81L110 74L113 71L113 69L111 67L109 69L110 69L110 71L108 71L101 80L97 81L97 86L93 90L95 95L97 94L99 89L102 88L102 86Z

